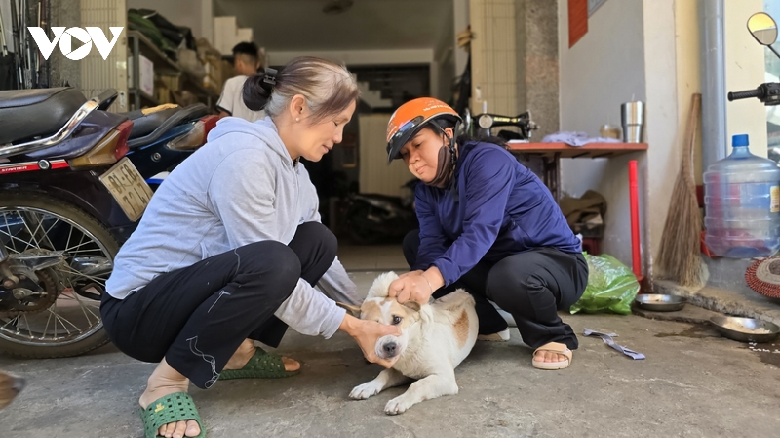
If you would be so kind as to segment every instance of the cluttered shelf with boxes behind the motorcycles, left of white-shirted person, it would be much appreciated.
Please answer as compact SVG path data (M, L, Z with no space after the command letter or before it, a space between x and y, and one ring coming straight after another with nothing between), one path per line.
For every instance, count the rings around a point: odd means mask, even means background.
M147 37L131 30L128 37L128 84L133 110L158 104L201 101L214 108L222 86L220 58L204 49L204 79L186 72Z

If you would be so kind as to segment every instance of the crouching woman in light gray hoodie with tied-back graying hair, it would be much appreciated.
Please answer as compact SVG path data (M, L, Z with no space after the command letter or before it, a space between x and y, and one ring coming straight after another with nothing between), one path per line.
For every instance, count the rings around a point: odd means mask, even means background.
M320 161L342 138L359 90L342 66L296 58L247 79L244 100L268 118L224 118L149 203L114 260L101 303L105 329L134 359L159 362L140 397L146 436L205 436L191 381L285 377L300 364L255 348L286 328L353 336L366 358L397 327L346 315L357 304L320 222L301 157ZM314 289L315 284L328 296Z

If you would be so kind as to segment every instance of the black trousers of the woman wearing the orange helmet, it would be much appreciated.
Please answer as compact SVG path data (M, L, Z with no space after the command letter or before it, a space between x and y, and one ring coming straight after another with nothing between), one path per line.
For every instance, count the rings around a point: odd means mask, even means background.
M420 247L419 230L406 235L403 254L413 266ZM577 348L577 338L558 310L569 309L587 286L587 261L582 254L540 248L507 256L496 263L481 261L453 284L434 292L434 298L457 288L466 289L477 301L480 334L504 330L505 320L488 302L515 318L523 341L532 348L551 341Z

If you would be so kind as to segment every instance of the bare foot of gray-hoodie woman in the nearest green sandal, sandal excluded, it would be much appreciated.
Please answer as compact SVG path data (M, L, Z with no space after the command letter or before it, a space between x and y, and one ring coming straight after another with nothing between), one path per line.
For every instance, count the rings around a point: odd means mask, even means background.
M165 359L162 359L160 365L154 369L154 373L151 373L151 376L147 379L146 390L144 390L144 394L141 394L138 404L140 404L142 409L146 409L151 402L160 397L176 392L186 392L189 384L190 380L187 380L185 376L182 376L176 369L169 366ZM195 420L172 422L161 426L158 430L158 435L167 438L198 436L200 435L200 425Z

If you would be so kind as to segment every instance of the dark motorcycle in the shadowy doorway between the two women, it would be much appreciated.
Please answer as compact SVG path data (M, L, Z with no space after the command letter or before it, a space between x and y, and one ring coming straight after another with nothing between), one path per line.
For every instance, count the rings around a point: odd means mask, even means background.
M346 210L349 238L357 245L398 242L409 231L418 228L414 213L414 178L403 188L411 196L352 195Z

